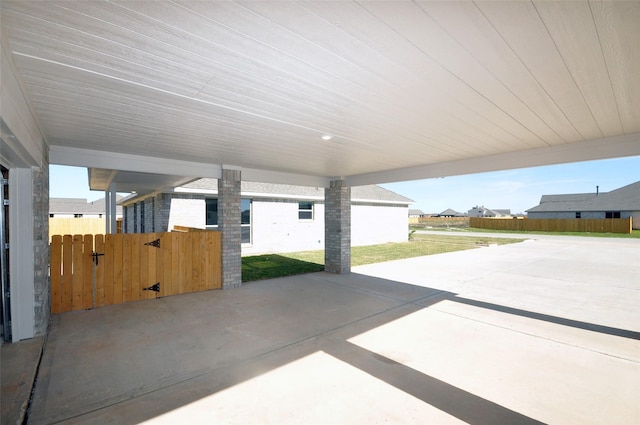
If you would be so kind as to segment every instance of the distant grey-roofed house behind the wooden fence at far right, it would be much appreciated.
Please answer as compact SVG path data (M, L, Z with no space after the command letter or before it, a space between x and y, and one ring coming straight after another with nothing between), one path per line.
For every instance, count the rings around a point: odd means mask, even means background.
M640 181L611 192L543 195L540 205L527 210L536 218L633 218L640 229Z

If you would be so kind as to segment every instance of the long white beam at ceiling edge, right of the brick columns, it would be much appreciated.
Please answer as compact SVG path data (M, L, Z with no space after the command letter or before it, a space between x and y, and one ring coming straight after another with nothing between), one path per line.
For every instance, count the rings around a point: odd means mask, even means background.
M640 155L640 133L347 177L349 186Z

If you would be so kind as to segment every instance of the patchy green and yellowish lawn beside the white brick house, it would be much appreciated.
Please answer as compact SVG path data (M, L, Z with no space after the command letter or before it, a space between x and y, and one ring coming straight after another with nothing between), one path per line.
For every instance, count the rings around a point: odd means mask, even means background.
M522 242L523 240L524 239L492 238L491 236L474 237L414 234L413 240L410 242L354 246L351 248L351 265L361 266L383 261L473 249L492 244L504 245ZM322 270L324 270L324 250L242 257L243 282Z

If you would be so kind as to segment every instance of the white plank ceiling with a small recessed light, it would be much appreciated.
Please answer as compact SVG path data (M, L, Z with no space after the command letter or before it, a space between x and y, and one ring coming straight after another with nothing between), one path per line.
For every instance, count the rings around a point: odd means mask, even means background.
M639 1L1 8L52 162L365 184L640 155Z

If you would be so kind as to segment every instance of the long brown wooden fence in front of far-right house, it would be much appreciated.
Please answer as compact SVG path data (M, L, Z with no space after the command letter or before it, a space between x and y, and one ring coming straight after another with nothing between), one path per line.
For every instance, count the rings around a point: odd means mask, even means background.
M631 233L631 218L480 218L470 217L469 226L479 229L517 230L528 232Z

